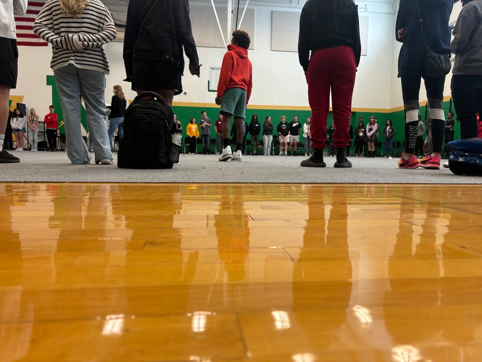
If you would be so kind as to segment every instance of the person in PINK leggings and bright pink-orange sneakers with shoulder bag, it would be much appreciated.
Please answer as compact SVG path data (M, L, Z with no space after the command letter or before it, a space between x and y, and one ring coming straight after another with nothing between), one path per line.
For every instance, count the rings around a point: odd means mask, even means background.
M430 77L426 71L426 40L429 48L441 55L450 54L449 18L454 2L401 0L395 27L395 38L402 42L398 60L398 76L402 78L402 95L405 111L405 150L398 166L414 169L424 167L440 169L445 114L443 112L443 86L445 76ZM420 15L418 14L420 9ZM420 19L423 23L420 23ZM423 36L422 36L423 27ZM421 78L425 81L428 109L432 117L433 153L418 160L415 146L418 135L419 93Z

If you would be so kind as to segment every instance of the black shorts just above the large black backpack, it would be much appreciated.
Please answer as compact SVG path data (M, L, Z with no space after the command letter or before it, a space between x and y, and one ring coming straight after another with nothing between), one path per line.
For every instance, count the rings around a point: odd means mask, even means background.
M165 60L134 59L132 90L157 92L174 89L174 95L182 93L182 71Z

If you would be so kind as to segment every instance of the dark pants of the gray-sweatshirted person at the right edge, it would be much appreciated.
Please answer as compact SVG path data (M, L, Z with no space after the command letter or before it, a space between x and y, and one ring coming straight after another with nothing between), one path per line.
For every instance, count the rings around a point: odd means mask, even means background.
M482 76L454 75L452 99L460 122L460 139L477 137L477 113L482 116ZM454 132L452 134L452 139ZM445 135L447 143L447 134Z

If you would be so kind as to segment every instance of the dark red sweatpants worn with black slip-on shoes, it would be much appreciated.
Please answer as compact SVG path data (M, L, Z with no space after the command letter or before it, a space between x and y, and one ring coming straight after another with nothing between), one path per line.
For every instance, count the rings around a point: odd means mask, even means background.
M355 54L348 46L321 49L311 54L306 79L308 102L311 108L310 130L313 149L325 148L326 123L330 111L330 88L333 122L336 127L333 144L336 148L346 148L349 145L348 129L356 71Z

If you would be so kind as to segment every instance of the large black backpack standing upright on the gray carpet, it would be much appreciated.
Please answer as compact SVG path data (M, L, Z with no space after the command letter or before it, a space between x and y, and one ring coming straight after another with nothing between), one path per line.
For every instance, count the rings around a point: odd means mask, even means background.
M146 96L155 99L142 99ZM159 94L139 94L125 111L117 167L172 168L169 155L173 125L173 110Z

